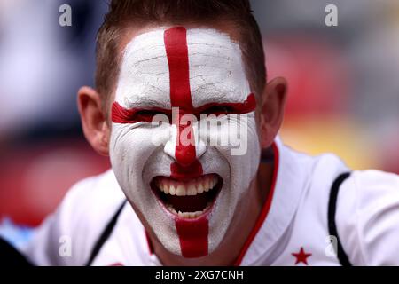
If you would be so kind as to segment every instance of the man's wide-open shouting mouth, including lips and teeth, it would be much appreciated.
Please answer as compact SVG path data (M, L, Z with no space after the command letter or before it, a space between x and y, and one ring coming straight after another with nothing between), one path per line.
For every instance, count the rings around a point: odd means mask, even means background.
M164 207L183 218L197 218L214 204L223 185L222 177L207 174L190 180L154 177L151 188Z

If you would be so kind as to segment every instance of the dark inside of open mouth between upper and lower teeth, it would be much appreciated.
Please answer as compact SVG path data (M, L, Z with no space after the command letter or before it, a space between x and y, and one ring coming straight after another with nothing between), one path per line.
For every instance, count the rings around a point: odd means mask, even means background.
M207 202L210 201L208 193L201 193L189 196L168 195L168 202L178 212L195 212L202 211L207 207Z

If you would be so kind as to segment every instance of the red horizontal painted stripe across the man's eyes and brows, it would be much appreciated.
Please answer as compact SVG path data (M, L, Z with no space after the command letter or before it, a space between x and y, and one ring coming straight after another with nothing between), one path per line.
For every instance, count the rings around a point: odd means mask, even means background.
M227 107L227 112L221 112L213 108ZM181 114L193 114L200 120L201 114L247 114L253 112L256 108L256 100L254 94L248 95L247 99L241 103L209 103L204 106L197 108L192 107L192 112L187 112L186 110L180 110ZM148 112L143 114L143 112ZM125 108L118 104L118 102L113 103L112 107L112 121L114 123L137 123L137 122L152 122L153 116L156 114L165 114L168 117L169 122L172 120L172 111L170 109L160 108L160 107L150 107L150 108Z

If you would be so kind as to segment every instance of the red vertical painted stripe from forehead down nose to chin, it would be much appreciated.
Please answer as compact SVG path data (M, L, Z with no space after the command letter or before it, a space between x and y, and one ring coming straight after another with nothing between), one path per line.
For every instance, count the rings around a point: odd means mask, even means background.
M176 122L184 114L194 114L192 94L190 90L189 59L187 48L187 31L183 27L169 28L164 34L165 49L168 56L170 76L170 102L172 107L179 107ZM180 133L186 127L191 131L187 138L192 137L192 125L177 126L177 140L175 149L176 162L172 163L171 176L181 175L184 168L196 169L198 175L202 174L202 166L196 158L195 145L183 145ZM192 164L195 167L192 167ZM184 257L200 257L207 255L208 220L203 218L198 221L176 218L176 231L179 236L180 248Z

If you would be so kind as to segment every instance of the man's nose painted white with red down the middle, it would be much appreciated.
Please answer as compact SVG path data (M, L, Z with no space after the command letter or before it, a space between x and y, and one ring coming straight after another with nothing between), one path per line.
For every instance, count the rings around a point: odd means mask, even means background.
M200 138L197 138L198 135L192 126L181 127L180 130L177 130L176 125L171 125L171 127L171 135L164 147L164 152L181 166L188 167L200 159L207 150L207 146Z

